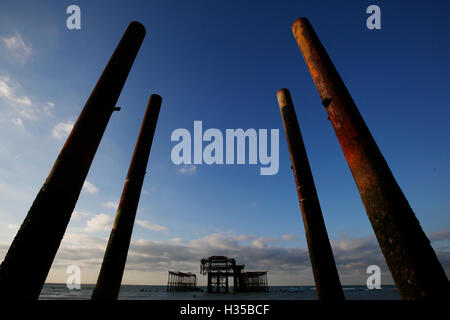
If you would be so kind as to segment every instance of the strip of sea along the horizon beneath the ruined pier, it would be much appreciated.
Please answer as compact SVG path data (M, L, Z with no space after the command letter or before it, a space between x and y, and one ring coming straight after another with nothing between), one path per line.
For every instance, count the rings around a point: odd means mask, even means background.
M80 289L68 289L66 284L46 283L40 300L89 300L94 284L81 285ZM270 286L269 292L208 293L206 287L199 291L173 292L166 286L123 285L119 300L317 300L314 286ZM366 286L343 286L347 300L400 300L395 286L381 286L369 290Z

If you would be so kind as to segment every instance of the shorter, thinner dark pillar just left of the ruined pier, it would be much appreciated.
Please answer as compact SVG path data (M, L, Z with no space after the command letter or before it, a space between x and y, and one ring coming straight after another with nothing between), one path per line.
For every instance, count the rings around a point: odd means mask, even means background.
M119 296L161 101L157 94L151 95L148 100L97 285L92 294L93 300L116 300Z

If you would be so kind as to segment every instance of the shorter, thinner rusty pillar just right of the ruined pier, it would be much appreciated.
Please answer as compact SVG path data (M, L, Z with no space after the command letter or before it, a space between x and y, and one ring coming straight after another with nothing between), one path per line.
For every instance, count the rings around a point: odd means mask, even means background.
M321 300L343 300L341 282L289 90L278 90L277 98L297 185L317 296Z

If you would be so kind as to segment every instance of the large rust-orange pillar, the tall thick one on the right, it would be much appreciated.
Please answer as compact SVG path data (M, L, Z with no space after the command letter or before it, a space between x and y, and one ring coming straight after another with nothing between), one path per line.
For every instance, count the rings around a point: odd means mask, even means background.
M292 32L401 297L448 298L450 285L430 241L314 29L300 18Z

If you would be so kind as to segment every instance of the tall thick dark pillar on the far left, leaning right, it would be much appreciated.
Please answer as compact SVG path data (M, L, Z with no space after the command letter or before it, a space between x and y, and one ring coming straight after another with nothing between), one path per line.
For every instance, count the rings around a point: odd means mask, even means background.
M116 47L0 266L0 299L37 299L145 36L132 22Z

